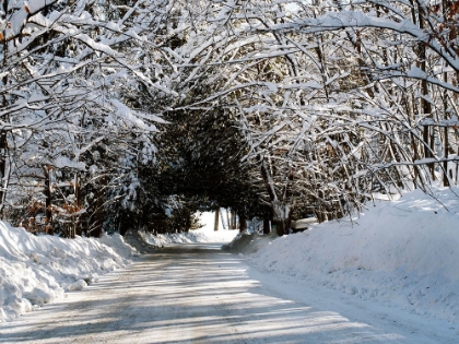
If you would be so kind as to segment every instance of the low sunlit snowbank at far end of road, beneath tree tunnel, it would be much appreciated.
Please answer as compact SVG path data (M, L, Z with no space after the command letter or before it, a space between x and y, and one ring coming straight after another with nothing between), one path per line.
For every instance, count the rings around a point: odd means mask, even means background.
M234 239L238 230L191 230L189 233L158 234L139 232L143 239L153 246L163 247L176 244L198 244L198 242L228 242Z

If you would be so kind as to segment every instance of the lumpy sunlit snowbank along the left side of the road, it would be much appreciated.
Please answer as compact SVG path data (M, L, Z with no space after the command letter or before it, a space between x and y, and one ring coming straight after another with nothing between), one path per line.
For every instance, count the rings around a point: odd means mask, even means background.
M81 290L136 253L119 235L62 239L0 222L0 322Z

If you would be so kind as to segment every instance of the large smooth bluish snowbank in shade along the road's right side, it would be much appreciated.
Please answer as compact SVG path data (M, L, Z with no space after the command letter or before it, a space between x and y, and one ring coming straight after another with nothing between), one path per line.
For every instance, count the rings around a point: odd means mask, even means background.
M459 193L457 188L454 189ZM365 214L276 238L256 266L459 323L459 198L435 190L373 204Z

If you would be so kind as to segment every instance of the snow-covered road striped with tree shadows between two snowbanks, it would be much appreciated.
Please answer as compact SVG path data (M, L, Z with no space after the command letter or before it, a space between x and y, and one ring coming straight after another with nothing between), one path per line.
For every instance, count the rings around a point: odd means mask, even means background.
M455 343L446 322L261 273L217 245L142 257L0 324L1 343Z

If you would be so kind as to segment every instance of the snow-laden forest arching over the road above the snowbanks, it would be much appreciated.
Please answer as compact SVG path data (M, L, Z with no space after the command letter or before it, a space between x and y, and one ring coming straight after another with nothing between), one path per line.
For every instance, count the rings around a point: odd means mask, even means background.
M459 1L3 0L0 215L348 216L459 176Z

